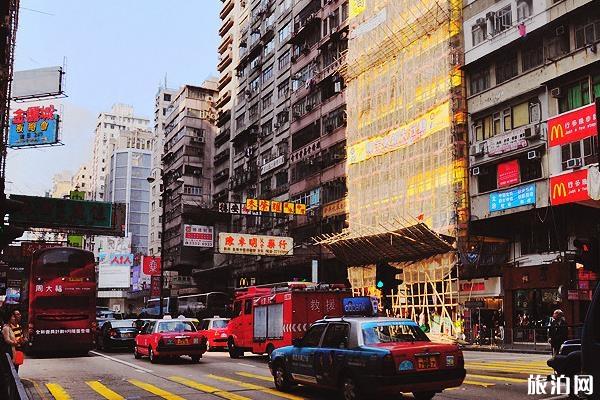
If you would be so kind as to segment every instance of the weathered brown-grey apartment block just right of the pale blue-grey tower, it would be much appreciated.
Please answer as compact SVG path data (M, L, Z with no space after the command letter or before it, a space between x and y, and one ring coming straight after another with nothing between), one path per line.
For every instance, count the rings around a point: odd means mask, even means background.
M217 81L185 85L172 95L165 118L162 156L165 230L163 266L189 276L213 266L212 248L184 246L184 225L212 225Z

